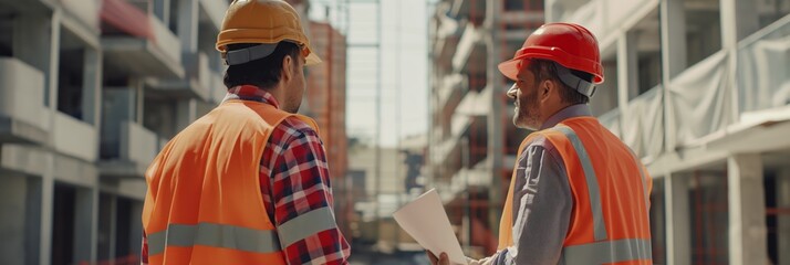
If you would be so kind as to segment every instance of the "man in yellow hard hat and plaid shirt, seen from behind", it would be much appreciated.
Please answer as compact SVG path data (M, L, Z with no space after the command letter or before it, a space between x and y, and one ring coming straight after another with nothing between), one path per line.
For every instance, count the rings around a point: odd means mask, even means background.
M347 264L324 146L297 115L310 50L281 0L236 0L217 36L225 100L146 171L143 263Z

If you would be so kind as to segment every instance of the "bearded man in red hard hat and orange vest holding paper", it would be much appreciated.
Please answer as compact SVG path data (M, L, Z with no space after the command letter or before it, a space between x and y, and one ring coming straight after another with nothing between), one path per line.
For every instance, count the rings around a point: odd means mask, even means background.
M651 178L586 105L603 83L595 36L544 24L499 71L516 82L513 124L536 131L519 147L499 251L470 264L651 264Z

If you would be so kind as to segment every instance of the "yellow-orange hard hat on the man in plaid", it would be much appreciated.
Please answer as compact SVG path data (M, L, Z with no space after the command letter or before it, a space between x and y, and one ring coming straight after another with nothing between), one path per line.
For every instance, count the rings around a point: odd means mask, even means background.
M268 56L280 42L292 42L302 49L305 65L321 63L310 49L299 13L282 0L233 0L225 13L217 35L217 51L229 65L242 64ZM260 43L228 52L228 44Z

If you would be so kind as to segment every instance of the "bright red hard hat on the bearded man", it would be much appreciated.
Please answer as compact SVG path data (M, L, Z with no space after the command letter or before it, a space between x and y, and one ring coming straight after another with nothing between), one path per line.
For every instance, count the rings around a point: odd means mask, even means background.
M518 80L521 60L545 59L568 68L592 74L593 83L603 83L603 66L597 40L584 26L572 23L549 23L536 30L513 59L499 64L499 71Z

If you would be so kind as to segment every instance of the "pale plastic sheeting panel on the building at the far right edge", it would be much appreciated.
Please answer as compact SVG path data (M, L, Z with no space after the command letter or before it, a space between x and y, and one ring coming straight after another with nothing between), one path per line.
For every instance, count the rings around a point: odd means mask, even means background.
M740 112L776 108L790 103L790 19L758 32L738 50ZM781 22L779 22L781 24Z

